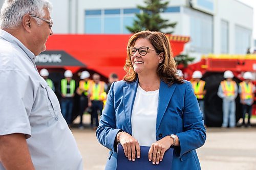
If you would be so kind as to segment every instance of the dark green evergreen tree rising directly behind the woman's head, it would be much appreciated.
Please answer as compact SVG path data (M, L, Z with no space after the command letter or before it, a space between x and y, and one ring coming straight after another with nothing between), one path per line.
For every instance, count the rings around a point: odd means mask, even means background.
M170 23L168 19L163 19L160 13L163 12L169 2L162 0L145 0L145 6L138 5L137 8L142 10L142 13L136 14L136 19L132 27L126 26L126 29L131 33L136 33L142 30L163 31L163 29L174 28L176 22ZM171 34L172 32L165 32Z

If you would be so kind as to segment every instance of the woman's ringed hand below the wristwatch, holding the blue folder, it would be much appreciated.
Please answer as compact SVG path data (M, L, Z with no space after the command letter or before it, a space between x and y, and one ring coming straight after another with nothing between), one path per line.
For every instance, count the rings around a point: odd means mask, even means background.
M170 146L173 144L174 140L169 136L158 140L155 143L152 143L150 150L148 151L148 160L153 164L159 164L159 161L163 160L165 151L167 151Z

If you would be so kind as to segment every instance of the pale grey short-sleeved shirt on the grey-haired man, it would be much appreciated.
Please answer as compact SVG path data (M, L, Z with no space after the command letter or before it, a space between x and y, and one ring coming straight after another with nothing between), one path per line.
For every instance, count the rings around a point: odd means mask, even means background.
M0 80L0 135L25 134L37 170L82 170L76 141L56 95L36 69L34 54L1 29Z

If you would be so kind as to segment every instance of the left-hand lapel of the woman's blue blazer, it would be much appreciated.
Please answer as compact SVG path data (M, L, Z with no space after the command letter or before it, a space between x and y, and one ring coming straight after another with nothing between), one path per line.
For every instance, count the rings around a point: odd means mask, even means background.
M136 82L126 82L126 85L127 86L123 87L123 108L127 126L129 128L130 134L132 135L131 115L138 87L138 79L136 80Z

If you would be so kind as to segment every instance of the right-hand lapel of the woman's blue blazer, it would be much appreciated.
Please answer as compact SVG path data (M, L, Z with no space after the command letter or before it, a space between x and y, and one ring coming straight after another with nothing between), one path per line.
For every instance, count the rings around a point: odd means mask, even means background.
M168 85L163 81L161 81L160 83L158 108L157 108L156 132L159 129L161 120L169 104L170 98L172 98L175 88L176 88L176 84L173 84L172 86L168 87Z

